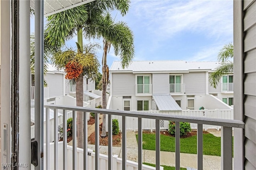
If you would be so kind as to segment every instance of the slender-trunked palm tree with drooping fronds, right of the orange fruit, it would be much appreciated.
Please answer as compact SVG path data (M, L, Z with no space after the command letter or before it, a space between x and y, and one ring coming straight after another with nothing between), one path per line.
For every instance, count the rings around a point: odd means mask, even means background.
M127 67L134 57L134 38L132 31L124 22L114 23L110 14L106 14L100 19L101 25L98 26L103 40L102 57L102 108L106 109L106 89L109 83L109 69L107 65L107 53L111 44L114 47L115 55L120 55L122 68ZM111 29L104 29L111 28ZM102 115L102 137L106 136L106 115Z

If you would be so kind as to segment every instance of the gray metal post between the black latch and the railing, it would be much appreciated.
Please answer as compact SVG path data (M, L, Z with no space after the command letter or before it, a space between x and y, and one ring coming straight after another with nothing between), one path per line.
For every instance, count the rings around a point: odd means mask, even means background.
M44 0L35 1L35 140L38 142L38 166L43 169L44 159ZM41 128L42 127L42 128Z

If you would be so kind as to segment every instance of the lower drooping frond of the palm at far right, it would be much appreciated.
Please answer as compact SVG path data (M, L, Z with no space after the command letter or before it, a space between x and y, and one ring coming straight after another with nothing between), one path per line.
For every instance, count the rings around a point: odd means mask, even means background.
M228 73L233 73L233 62L228 61L226 63L222 63L220 67L216 69L213 73L209 76L209 83L212 87L216 88L218 86L218 83L220 82L220 79L223 75L226 75Z

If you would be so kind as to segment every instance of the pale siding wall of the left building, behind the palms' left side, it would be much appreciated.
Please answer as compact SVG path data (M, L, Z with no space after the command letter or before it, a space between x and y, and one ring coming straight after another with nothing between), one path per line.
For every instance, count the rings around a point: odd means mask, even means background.
M63 74L47 73L44 78L49 87L49 98L63 96Z

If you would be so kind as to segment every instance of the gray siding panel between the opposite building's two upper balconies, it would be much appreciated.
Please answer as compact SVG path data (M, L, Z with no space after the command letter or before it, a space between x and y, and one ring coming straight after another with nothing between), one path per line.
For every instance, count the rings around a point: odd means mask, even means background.
M153 94L168 94L169 91L169 74L153 73Z

